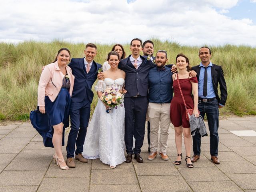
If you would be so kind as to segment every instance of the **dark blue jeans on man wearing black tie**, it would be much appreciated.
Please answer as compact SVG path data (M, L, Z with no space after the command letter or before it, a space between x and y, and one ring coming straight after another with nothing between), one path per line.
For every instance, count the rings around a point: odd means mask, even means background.
M198 104L198 110L200 115L204 118L207 116L209 131L210 131L210 154L211 156L218 156L218 144L219 144L219 108L218 100L214 99L211 102L200 102ZM196 131L193 137L193 151L194 155L200 155L201 153L201 135Z

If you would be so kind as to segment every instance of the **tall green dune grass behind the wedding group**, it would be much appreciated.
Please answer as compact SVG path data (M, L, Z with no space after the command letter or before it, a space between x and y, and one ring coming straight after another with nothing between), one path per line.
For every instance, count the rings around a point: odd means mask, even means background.
M169 63L175 62L178 53L190 58L192 66L198 65L197 46L182 46L168 40L153 38L154 50L166 50ZM103 63L112 44L97 44L95 61ZM126 56L129 43L123 44ZM41 68L51 63L57 51L66 47L72 58L84 57L85 44L27 41L19 44L0 43L0 120L27 120L37 105L37 87ZM250 46L211 46L212 62L224 70L228 100L221 114L256 114L256 48ZM94 84L95 85L95 84ZM98 101L95 94L91 114Z

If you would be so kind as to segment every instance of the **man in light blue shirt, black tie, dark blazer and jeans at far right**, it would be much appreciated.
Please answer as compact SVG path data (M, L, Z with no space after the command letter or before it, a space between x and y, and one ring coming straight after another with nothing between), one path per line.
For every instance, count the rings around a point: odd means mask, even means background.
M204 118L207 116L210 130L210 154L211 160L215 164L220 164L218 159L218 127L219 127L219 108L222 108L227 100L227 87L221 66L212 64L210 58L212 52L208 47L201 47L199 50L200 65L192 67L198 79L198 110ZM218 84L220 84L220 97L218 95ZM191 161L196 162L201 153L201 136L197 131L193 137L194 156Z

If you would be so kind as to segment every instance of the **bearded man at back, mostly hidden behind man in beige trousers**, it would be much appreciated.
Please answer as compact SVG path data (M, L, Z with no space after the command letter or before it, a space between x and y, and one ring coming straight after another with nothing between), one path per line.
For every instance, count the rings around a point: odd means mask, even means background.
M148 56L150 56L150 60L154 62L156 59L153 54L154 54L154 43L150 40L144 41L142 44L142 52L143 56L148 59ZM150 152L150 122L148 121L148 152Z

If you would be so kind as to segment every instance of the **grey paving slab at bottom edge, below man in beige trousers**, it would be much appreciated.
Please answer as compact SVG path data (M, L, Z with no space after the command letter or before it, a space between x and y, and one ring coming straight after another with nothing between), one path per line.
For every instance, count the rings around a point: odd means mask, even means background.
M142 192L189 192L192 191L180 175L138 176Z

